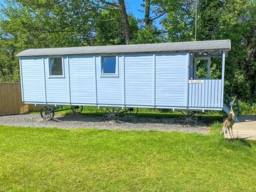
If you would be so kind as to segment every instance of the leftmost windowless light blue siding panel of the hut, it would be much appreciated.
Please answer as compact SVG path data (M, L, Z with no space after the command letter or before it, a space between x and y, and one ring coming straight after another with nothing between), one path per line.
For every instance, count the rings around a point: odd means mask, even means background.
M43 58L21 58L23 102L46 102Z

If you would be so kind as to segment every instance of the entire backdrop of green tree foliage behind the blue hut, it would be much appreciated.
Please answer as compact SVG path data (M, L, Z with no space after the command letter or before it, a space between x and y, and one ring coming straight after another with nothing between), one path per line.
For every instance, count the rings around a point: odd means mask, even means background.
M146 2L147 23L128 14L129 43L193 41L194 1ZM0 5L0 82L19 80L15 55L26 48L124 44L121 21L118 2L4 0ZM256 102L256 1L200 0L197 21L198 41L231 40L225 92ZM213 59L211 64L211 78L220 78L219 61Z

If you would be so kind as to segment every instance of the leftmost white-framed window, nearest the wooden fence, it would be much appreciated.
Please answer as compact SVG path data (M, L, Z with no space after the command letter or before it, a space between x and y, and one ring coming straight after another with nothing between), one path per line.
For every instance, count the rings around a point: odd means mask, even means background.
M55 78L63 78L63 59L49 59L50 76Z

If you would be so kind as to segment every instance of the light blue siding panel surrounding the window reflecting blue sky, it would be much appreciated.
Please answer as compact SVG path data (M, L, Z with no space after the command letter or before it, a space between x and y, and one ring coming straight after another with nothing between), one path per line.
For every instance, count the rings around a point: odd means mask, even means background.
M124 104L124 70L122 55L118 57L119 77L102 77L101 57L96 57L97 70L97 103L99 105L123 105ZM93 73L93 72L92 72Z

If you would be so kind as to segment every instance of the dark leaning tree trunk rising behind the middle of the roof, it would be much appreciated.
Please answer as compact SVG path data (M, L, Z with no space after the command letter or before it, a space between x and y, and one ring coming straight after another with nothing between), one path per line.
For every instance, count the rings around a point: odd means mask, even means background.
M119 1L119 8L122 14L122 26L124 28L125 44L128 44L130 41L130 33L129 33L129 21L127 16L127 11L125 9L124 0L118 0L118 1Z

